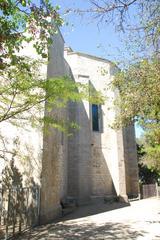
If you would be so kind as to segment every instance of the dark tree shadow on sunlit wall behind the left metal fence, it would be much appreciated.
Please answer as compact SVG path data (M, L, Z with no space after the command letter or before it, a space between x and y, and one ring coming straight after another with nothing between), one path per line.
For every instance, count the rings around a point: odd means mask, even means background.
M0 239L8 239L38 224L39 187L30 179L23 187L23 176L12 159L2 172L0 188Z

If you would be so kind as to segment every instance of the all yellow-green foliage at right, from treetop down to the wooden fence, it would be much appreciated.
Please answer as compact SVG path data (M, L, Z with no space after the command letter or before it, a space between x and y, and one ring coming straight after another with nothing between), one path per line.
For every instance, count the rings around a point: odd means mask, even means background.
M160 173L160 61L143 60L117 74L112 83L119 89L115 105L121 110L114 126L137 121L145 130L144 156L140 172L146 176ZM145 180L147 181L147 180Z

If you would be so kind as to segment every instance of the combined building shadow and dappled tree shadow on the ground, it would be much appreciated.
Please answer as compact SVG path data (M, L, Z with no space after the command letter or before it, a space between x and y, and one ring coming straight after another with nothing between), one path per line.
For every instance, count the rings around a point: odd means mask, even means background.
M74 213L65 216L61 222L54 222L45 226L39 226L27 231L17 240L102 240L102 239L137 239L143 237L145 232L138 232L129 224L107 222L100 225L88 223L87 218L83 221L73 220L76 218L87 217L106 211L115 210L128 206L124 203L99 204L83 206ZM71 220L71 221L67 221Z

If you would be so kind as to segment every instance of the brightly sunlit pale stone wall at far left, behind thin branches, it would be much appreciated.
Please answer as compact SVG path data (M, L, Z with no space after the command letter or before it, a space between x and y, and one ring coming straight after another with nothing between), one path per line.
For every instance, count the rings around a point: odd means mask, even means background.
M36 53L32 43L25 43L20 53L31 59L42 60ZM47 64L39 66L39 75L42 78L47 76ZM14 158L14 165L23 176L23 186L40 186L40 176L42 169L42 148L43 133L42 125L32 127L32 123L27 118L36 115L43 117L44 103L41 103L41 110L32 108L26 111L22 119L9 119L0 124L0 180L1 172L9 161ZM16 144L15 144L16 143ZM16 154L12 154L16 150ZM14 157L13 157L14 155Z

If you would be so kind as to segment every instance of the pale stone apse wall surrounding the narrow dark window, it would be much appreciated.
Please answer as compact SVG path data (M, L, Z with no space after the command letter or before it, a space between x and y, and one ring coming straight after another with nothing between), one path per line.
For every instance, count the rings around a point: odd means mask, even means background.
M112 104L115 94L107 90L107 84L113 77L114 66L107 60L75 53L71 49L66 49L65 58L76 82L92 84L106 96L105 104L102 105L103 126L99 132L92 131L91 104L82 101L75 108L75 119L80 130L75 134L74 140L70 140L72 143L68 148L68 172L72 171L69 183L74 185L69 187L72 189L70 194L77 194L78 199L105 195L122 195L125 198L126 172L122 131L117 132L110 127L115 118ZM74 171L76 181L72 178Z

